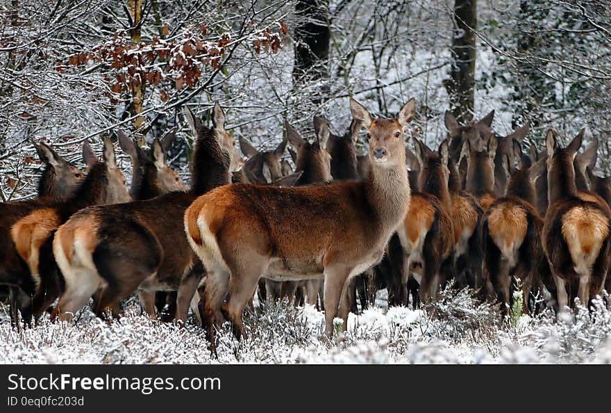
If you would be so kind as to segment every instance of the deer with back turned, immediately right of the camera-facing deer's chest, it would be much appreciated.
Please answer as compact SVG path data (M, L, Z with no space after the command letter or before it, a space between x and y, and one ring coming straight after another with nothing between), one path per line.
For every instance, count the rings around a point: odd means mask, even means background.
M420 284L422 302L435 297L446 282L452 262L454 229L449 211L452 201L448 190L449 142L438 151L414 139L420 164L419 192L412 193L410 209L397 233L403 245L402 284L408 296L408 280L414 275Z

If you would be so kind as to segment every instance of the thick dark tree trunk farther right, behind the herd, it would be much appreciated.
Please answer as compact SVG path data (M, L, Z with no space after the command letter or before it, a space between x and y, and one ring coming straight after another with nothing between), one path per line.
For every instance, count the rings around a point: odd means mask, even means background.
M446 84L451 109L460 123L470 122L474 111L477 0L455 0L451 81Z

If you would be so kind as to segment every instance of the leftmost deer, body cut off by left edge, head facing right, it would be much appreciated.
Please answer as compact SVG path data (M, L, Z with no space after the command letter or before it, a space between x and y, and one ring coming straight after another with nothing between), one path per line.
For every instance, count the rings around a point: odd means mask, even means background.
M21 276L28 271L28 268L15 250L10 228L34 209L54 200L70 197L85 179L85 174L81 170L62 159L49 146L44 143L35 143L33 140L31 143L44 163L44 170L38 181L39 199L0 203L0 216L2 216L0 220L0 285L10 286L8 287L10 314L13 323L17 323L19 307L21 307L24 320L29 320L28 311L24 305L18 305L18 302L27 303L28 297L33 294L35 285L30 278Z

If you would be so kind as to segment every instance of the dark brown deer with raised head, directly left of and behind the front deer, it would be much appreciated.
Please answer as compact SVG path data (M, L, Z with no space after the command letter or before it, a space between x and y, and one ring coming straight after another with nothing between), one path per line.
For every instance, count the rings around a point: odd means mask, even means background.
M241 166L225 115L215 104L213 129L186 110L196 136L191 190L151 200L97 206L74 215L58 229L53 253L64 275L65 291L51 314L69 320L102 289L97 312L112 307L135 289L178 291L176 320L185 321L203 268L189 248L181 227L183 216L198 195L230 182L230 170ZM145 309L155 317L153 302Z

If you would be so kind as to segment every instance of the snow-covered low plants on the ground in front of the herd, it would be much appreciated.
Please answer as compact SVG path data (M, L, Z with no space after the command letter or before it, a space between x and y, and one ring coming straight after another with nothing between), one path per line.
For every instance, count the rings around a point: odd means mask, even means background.
M380 302L380 300L378 300ZM424 309L383 306L350 315L346 334L323 337L314 307L267 305L247 312L249 339L235 341L225 325L218 359L201 328L181 328L140 315L135 301L120 322L83 311L76 325L50 323L17 331L0 307L0 363L17 364L301 364L301 363L611 363L611 311L599 303L556 321L549 311L503 321L494 305L469 291L446 289Z

